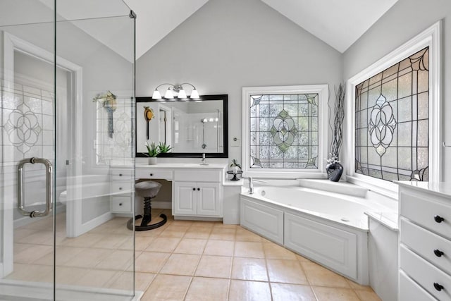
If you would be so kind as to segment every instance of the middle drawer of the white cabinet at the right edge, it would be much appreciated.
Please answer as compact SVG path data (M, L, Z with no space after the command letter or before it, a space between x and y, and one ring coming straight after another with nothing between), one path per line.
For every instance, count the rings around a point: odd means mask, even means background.
M403 218L400 223L400 235L404 245L451 275L451 240L409 223Z

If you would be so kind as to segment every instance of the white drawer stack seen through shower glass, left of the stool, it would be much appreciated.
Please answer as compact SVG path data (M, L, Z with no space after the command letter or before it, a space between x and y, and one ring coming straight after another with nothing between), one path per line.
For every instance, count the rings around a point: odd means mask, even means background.
M117 214L132 213L132 168L112 167L110 171L110 211Z

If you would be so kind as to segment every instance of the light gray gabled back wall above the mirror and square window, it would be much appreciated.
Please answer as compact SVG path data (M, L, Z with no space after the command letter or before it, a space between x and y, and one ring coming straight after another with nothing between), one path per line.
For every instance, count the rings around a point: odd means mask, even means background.
M138 16L140 18L140 16ZM242 87L338 85L338 51L259 0L210 0L137 60L137 96L162 82L228 94L228 139L241 137ZM229 146L241 162L241 147Z

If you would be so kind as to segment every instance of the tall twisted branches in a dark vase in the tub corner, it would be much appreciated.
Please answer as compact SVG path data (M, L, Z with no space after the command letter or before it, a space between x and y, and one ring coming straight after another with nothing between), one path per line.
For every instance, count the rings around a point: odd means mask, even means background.
M340 164L340 147L343 142L343 119L345 118L345 94L346 88L342 83L335 89L335 107L334 107L334 121L332 129L332 142L330 143L330 154L327 160L326 171L327 177L333 182L338 182L343 173L343 166ZM330 116L332 118L332 116Z

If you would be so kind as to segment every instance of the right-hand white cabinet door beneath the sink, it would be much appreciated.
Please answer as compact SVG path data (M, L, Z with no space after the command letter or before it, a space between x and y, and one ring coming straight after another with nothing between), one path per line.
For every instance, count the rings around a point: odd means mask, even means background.
M219 202L218 183L197 183L197 214L202 216L222 216Z

